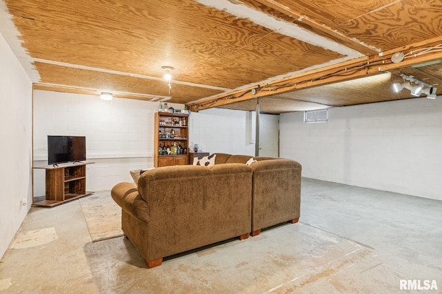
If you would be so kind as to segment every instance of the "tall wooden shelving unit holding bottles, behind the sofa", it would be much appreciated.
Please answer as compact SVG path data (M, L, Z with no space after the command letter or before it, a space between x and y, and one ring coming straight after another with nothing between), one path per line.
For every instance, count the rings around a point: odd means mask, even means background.
M181 121L182 124L174 122ZM185 122L184 122L185 121ZM171 131L175 133L175 137L165 137L165 133ZM161 133L160 133L161 132ZM189 163L189 115L185 113L172 112L155 112L155 132L153 146L153 164L155 167L160 166L181 166ZM186 154L177 155L160 155L158 149L160 145L181 144L182 148L188 151Z

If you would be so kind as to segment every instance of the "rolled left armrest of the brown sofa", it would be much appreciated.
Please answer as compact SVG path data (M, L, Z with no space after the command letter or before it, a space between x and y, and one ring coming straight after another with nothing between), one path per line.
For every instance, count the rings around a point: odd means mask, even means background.
M148 205L143 197L138 193L137 186L132 183L119 183L111 190L112 198L126 213L148 222Z

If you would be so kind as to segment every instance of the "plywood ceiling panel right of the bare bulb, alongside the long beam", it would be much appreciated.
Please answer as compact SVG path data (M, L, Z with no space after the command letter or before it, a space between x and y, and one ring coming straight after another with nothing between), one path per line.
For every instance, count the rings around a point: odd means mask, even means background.
M223 59L205 59L204 62L196 63L190 70L195 72L194 76L177 75L177 79L186 78L193 83L202 84L205 81L213 86L238 88L340 57L343 55L334 51L272 33ZM215 75L210 75L210 72ZM224 72L224 75L217 75L219 72Z

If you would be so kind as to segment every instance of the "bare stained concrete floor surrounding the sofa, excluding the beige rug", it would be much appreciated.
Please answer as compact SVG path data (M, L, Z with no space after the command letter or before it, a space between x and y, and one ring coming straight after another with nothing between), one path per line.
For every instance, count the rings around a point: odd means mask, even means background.
M124 237L90 242L75 200L31 208L17 236L39 233L1 260L0 293L441 293L441 224L441 201L302 179L298 224L148 269Z

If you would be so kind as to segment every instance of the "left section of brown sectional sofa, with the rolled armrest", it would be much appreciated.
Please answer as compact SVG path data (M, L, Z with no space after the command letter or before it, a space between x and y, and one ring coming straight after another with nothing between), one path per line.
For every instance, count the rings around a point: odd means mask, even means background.
M245 164L165 166L144 172L138 188L111 191L122 230L148 268L162 258L233 237L251 228L251 168Z

